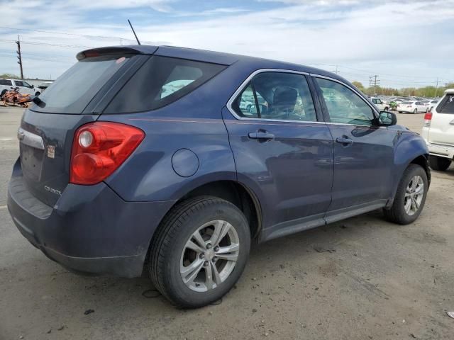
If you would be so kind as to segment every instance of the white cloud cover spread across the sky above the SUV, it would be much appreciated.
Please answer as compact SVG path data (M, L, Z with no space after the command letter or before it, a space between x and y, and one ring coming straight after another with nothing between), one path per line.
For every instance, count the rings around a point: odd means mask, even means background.
M8 6L6 21L0 26L28 27L37 30L57 30L88 35L116 37L133 36L120 18L111 23L87 22L83 8L89 1L69 3L71 6L41 7L43 1L19 1L26 6ZM369 6L357 5L358 1L297 1L290 6L270 10L246 11L248 8L219 7L200 11L204 19L191 19L192 12L172 11L168 6L177 4L163 1L138 0L128 4L128 11L135 6L164 6L169 13L162 16L173 18L168 23L146 25L143 13L138 13L142 23L136 25L140 40L166 42L167 45L203 48L232 52L257 57L266 57L301 64L321 64L321 68L332 70L339 65L341 74L350 80L367 81L368 76L380 74L383 85L418 86L436 81L454 80L449 57L454 55L454 44L448 32L454 28L454 1L369 1ZM94 1L93 1L94 2ZM102 0L101 4L111 1ZM112 7L126 6L114 1ZM41 5L40 5L41 4ZM323 5L322 5L323 4ZM96 4L96 6L98 6ZM3 7L4 8L4 7ZM161 10L155 7L154 10ZM187 14L181 18L178 16ZM202 14L205 13L205 14ZM2 14L3 16L3 14ZM123 21L125 22L123 24ZM33 23L28 25L27 23ZM0 29L1 32L1 29ZM16 33L1 34L0 39L15 39ZM66 45L118 45L118 39L87 38L71 35L54 35L26 32L23 40L60 42ZM131 43L133 40L128 41ZM0 41L1 42L1 41ZM0 49L6 48L0 44ZM25 51L46 55L66 56L73 60L77 48L43 47L23 45ZM14 46L9 46L13 51ZM80 50L80 49L79 49ZM0 55L4 60L3 55ZM15 70L15 60L5 58L1 72ZM62 57L63 60L63 57ZM27 62L29 63L29 62ZM9 65L11 70L5 69ZM30 67L33 65L33 67ZM35 66L36 65L36 66ZM52 64L38 62L26 64L26 74L52 76L68 67L70 63ZM420 84L421 83L421 84Z

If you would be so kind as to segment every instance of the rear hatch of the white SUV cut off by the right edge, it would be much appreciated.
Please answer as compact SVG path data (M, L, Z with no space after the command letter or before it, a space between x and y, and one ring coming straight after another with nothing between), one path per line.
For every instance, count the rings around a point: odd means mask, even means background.
M445 91L431 118L428 142L454 145L454 89Z

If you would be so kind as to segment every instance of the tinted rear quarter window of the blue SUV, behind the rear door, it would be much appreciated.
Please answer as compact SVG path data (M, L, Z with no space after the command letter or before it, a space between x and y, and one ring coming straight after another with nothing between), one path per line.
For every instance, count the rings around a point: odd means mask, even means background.
M172 57L150 57L107 106L105 113L155 110L216 76L225 65Z

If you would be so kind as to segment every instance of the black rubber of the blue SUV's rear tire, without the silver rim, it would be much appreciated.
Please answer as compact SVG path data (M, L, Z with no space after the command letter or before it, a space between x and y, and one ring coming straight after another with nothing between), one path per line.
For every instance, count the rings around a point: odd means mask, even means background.
M191 290L183 282L179 266L182 251L192 234L211 220L229 222L240 240L235 267L218 286L205 292ZM243 213L232 203L220 198L190 198L166 215L150 245L150 278L157 290L176 307L196 308L209 305L228 293L240 278L248 261L250 229Z

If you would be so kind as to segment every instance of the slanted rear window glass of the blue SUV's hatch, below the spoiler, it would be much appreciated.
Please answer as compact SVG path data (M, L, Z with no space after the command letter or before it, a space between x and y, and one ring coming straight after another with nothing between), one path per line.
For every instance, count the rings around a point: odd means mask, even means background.
M43 103L31 109L45 113L82 113L106 81L129 58L131 55L110 55L80 60L40 95Z

